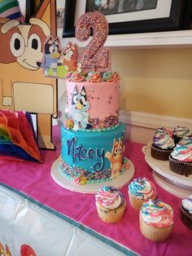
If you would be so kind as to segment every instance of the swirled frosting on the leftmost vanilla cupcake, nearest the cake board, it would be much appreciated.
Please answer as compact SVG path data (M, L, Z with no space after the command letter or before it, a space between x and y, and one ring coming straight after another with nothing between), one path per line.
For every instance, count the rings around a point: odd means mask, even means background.
M96 201L107 209L116 209L123 204L124 198L121 192L115 188L103 187L95 195Z

